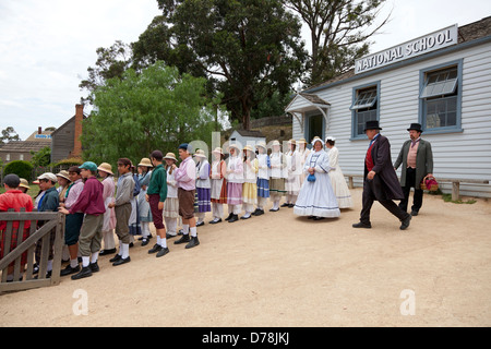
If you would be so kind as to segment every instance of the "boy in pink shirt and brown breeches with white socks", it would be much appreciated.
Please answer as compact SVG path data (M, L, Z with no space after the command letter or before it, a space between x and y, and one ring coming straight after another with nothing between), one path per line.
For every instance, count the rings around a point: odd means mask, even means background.
M175 244L185 243L185 249L200 244L194 218L194 193L196 190L196 167L191 157L191 146L188 143L179 145L179 167L172 165L173 176L178 184L179 215L182 217L182 237ZM189 237L191 234L191 238Z

